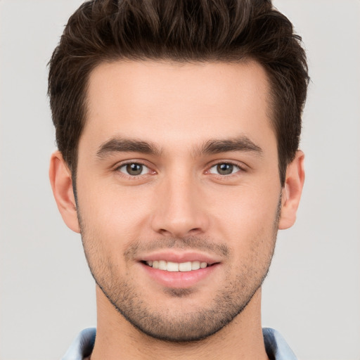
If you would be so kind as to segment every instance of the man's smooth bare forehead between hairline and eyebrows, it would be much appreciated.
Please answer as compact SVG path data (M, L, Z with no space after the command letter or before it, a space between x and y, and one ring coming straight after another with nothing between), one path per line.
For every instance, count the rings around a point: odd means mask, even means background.
M268 98L266 72L255 61L101 63L89 77L83 136L150 137L169 145L181 136L256 138L264 129L273 134Z

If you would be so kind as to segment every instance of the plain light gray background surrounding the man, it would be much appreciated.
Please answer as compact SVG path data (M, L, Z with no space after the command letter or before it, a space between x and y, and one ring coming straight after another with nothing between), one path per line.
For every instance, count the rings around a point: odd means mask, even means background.
M80 238L48 181L46 63L79 0L0 0L0 359L59 359L96 325ZM312 83L297 224L278 236L263 323L302 360L360 360L360 2L277 0Z

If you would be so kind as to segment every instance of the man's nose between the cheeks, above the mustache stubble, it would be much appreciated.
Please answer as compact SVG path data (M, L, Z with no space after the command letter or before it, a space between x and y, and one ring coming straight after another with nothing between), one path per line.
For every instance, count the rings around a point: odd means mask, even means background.
M153 230L176 238L205 233L210 221L200 185L191 176L163 179L156 193Z

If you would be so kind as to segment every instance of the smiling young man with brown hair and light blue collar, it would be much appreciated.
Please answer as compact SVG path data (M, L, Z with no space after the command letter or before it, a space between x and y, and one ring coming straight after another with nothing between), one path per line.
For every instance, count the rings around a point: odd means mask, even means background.
M307 92L270 1L88 1L50 62L50 179L96 281L63 359L295 359L262 330Z

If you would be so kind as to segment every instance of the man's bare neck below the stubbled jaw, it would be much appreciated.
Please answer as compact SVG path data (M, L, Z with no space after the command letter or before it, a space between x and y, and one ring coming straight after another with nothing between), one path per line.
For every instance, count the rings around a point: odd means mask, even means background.
M98 326L91 360L268 360L261 326L261 289L228 326L196 342L167 342L142 333L96 288Z

